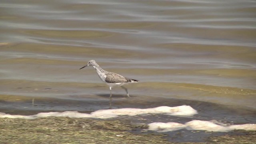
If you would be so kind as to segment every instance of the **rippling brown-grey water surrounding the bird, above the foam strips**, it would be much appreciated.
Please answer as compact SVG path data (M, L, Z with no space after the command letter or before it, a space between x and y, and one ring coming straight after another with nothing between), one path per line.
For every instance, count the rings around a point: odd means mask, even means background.
M205 110L204 120L256 123L255 7L251 0L2 0L0 109L109 108L95 70L79 70L94 59L140 80L127 85L132 100L113 88L113 108L187 104Z

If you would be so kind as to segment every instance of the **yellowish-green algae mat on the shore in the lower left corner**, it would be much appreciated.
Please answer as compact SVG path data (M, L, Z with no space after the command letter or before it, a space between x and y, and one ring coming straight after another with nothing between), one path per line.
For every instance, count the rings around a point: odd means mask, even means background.
M163 134L132 134L119 120L46 117L35 120L0 118L2 143L128 144L168 143Z

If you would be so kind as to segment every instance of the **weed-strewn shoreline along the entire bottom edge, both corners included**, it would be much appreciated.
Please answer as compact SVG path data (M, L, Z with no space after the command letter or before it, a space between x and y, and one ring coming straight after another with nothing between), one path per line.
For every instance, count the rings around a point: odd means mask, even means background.
M130 124L125 118L112 120L68 117L47 117L36 120L0 118L0 128L3 144L35 142L38 144L174 144L176 142L172 142L172 139L179 137L179 134L182 135L180 132L176 132L173 136L156 132L138 132L147 128L147 125ZM253 144L255 138L255 131L238 130L222 133L221 136L207 137L200 144ZM180 143L198 144L198 142L189 142L186 138Z

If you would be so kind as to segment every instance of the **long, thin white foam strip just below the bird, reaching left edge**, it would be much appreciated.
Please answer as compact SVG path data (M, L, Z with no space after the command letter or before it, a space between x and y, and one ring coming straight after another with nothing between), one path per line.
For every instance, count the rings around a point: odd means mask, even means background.
M63 116L70 118L114 118L118 116L136 116L142 114L168 114L174 116L193 116L197 114L191 106L159 106L156 108L120 108L120 109L110 109L110 110L97 110L90 114L83 114L76 111L66 111L66 112L41 112L31 116L22 115L10 115L5 113L0 113L0 118L24 118L24 119L35 119L48 116Z

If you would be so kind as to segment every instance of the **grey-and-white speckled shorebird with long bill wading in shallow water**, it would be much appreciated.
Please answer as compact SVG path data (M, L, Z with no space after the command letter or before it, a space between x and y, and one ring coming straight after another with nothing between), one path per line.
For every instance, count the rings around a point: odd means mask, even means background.
M88 64L86 64L85 66L83 66L82 68L85 68L86 66L93 66L98 74L98 76L100 77L100 79L103 82L106 82L106 84L108 84L109 89L110 89L110 98L112 98L112 88L114 86L121 86L121 88L123 88L126 91L127 96L130 98L128 90L126 87L124 87L124 84L128 84L131 82L138 82L138 80L134 80L131 78L126 78L124 76L121 76L120 74L116 74L114 72L108 72L106 70L103 70L96 62L95 60L90 60L88 62ZM80 70L82 69L80 68Z

